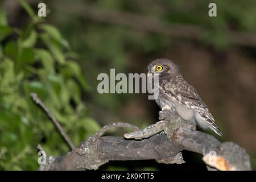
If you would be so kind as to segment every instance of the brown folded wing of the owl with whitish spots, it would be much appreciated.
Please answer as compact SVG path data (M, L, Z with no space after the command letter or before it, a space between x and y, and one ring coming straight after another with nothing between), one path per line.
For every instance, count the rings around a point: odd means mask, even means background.
M196 89L193 88L192 85L189 85L187 81L183 79L163 80L159 82L159 85L163 92L165 92L172 100L195 110L201 117L205 118L205 121L212 126L213 130L218 135L222 135L212 114L210 114L207 105L201 100Z

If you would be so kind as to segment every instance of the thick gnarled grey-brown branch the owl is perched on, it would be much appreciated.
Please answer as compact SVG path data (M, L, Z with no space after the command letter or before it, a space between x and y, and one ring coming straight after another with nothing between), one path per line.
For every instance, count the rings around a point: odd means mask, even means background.
M142 140L125 139L123 137L101 137L110 127L129 126L128 123L113 123L89 137L75 150L64 156L48 161L40 166L43 170L83 170L98 169L109 160L147 160L155 159L159 163L182 164L181 151L188 150L203 155L204 162L219 170L250 170L250 158L246 151L233 142L219 142L212 135L196 131L195 126L188 125L174 110L160 112L163 121L142 131L135 131L133 137L148 136L147 133L158 132L157 126L164 133L154 134ZM163 125L163 122L165 123ZM131 136L127 135L126 136ZM208 168L212 169L212 168Z

